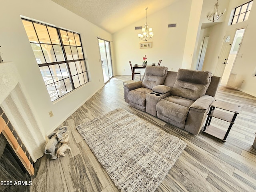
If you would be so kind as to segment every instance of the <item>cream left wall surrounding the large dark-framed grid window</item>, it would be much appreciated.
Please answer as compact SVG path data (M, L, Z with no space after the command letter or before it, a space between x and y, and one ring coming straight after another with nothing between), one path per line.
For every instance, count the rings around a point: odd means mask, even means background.
M90 82L51 102L21 16L80 33ZM48 134L104 86L96 36L108 41L112 41L112 36L50 0L2 1L0 18L2 58L5 62L10 61L15 64L21 76L20 85L25 90L28 104L42 132ZM54 114L52 118L48 114L50 111Z

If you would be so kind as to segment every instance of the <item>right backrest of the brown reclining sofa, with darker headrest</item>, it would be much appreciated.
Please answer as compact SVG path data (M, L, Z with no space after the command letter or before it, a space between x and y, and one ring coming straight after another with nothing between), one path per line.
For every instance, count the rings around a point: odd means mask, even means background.
M206 93L211 77L208 71L179 69L171 94L195 101Z

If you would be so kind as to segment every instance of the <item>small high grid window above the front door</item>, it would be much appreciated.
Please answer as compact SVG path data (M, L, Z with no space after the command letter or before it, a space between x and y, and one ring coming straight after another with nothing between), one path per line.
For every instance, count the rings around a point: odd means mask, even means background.
M252 3L253 3L253 0L236 7L234 11L234 15L232 17L231 24L236 24L236 23L240 23L248 20L248 17L252 8Z

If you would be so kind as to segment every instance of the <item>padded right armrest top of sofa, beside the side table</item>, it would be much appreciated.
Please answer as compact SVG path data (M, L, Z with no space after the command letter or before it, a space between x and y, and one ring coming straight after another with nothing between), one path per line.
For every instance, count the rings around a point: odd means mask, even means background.
M192 105L190 105L189 107L189 110L196 110L198 112L204 113L205 110L209 108L213 100L214 100L214 97L209 95L204 95L198 98L194 103L192 103Z

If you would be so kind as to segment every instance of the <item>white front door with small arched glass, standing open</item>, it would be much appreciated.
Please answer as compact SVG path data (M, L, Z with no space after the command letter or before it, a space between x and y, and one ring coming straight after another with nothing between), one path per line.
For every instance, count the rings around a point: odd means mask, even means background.
M228 56L234 40L235 32L236 32L236 29L226 32L214 76L222 77L223 75L226 64L228 62Z

